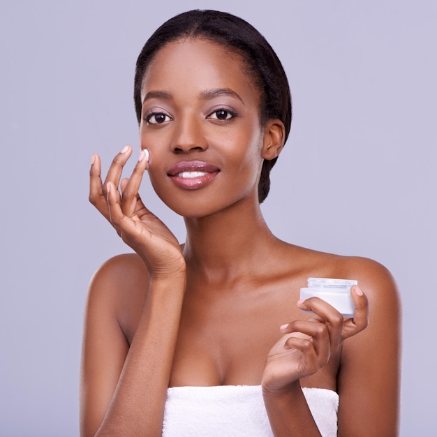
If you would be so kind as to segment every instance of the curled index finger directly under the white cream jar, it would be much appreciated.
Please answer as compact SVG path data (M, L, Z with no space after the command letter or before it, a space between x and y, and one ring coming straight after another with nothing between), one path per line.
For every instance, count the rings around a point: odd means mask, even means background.
M334 306L319 297L310 297L304 301L299 300L297 306L304 311L313 311L315 316L309 320L323 321L327 324L331 348L332 350L336 350L341 342L341 331L343 329L344 319L341 313L339 313Z

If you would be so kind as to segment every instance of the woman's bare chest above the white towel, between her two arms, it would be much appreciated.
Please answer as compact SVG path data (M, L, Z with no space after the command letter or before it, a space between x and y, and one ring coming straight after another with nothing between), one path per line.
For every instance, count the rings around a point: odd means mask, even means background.
M259 385L267 354L281 339L279 327L309 317L297 309L297 299L298 290L288 285L188 295L170 387ZM337 367L332 360L306 386L335 388Z

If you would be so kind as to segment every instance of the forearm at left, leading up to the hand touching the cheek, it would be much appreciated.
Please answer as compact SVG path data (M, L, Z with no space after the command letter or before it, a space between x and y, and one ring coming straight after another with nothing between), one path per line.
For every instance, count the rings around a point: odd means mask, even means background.
M161 436L185 276L151 281L110 406L96 436Z

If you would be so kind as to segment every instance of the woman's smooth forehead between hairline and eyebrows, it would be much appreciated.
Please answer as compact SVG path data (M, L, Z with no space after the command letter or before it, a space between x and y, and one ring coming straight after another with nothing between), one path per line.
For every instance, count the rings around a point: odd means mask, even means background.
M230 88L258 104L249 68L235 51L203 38L186 38L164 45L142 80L142 99L151 89L195 91Z

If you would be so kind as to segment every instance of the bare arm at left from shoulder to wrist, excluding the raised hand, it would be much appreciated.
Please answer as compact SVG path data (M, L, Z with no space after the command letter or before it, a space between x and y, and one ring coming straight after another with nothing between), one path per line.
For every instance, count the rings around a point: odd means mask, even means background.
M184 276L171 283L151 281L145 299L135 299L144 304L129 347L117 313L119 296L132 295L124 288L135 288L137 279L146 279L147 288L147 274L118 257L91 281L82 353L82 436L161 436Z

